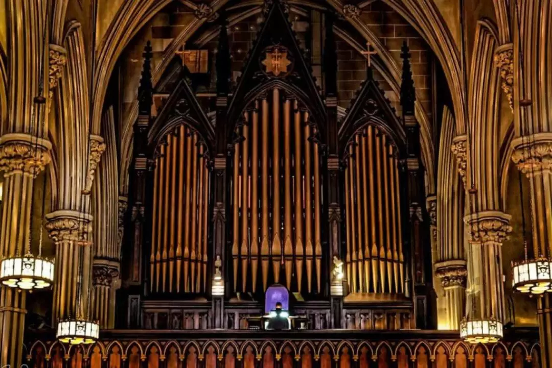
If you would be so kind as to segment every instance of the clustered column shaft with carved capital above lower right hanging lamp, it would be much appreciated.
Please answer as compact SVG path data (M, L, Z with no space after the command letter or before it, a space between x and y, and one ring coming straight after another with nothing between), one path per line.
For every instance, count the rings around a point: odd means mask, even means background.
M512 231L509 225L511 215L500 211L484 211L466 215L470 250L468 268L470 271L471 297L475 297L474 317L497 318L503 321L504 285L502 270L502 242ZM468 315L471 305L466 311Z

